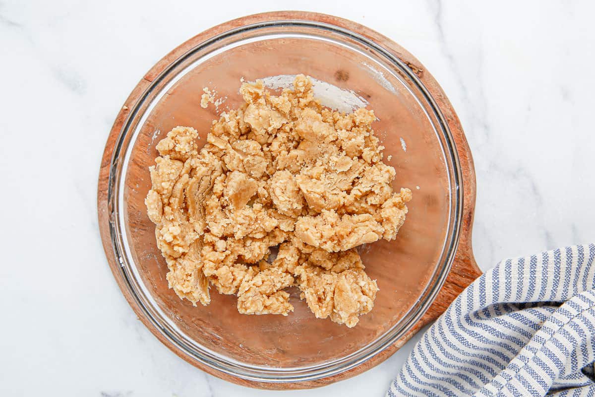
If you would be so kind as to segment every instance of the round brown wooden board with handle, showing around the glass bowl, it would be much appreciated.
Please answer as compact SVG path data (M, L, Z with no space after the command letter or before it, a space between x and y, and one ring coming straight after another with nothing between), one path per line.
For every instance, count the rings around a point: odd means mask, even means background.
M111 237L109 235L109 212L107 202L109 168L111 163L112 152L114 151L115 141L120 133L124 121L126 120L126 117L129 114L130 108L133 107L133 105L136 103L137 99L139 99L142 92L155 79L155 77L158 76L158 74L161 73L161 71L163 71L165 67L167 67L167 65L169 65L172 61L176 60L182 54L184 54L184 52L188 51L190 48L195 47L196 45L208 39L209 37L218 35L219 33L226 32L227 30L236 27L245 26L247 24L273 20L310 20L343 27L345 29L349 29L353 32L359 33L360 35L365 36L368 39L371 39L372 41L378 43L384 48L389 49L390 51L392 51L394 55L396 55L396 57L405 62L405 64L408 65L409 68L411 68L411 70L414 71L415 74L417 74L421 82L424 83L425 87L427 87L428 91L434 97L441 111L443 112L444 117L447 120L447 123L449 124L450 131L452 132L453 138L456 143L459 161L461 163L462 168L464 202L461 238L459 240L459 246L458 251L456 252L455 260L453 262L450 273L447 276L446 282L444 283L442 289L438 293L433 304L427 310L427 312L425 312L421 320L419 320L418 323L415 324L415 326L412 327L412 329L409 330L409 332L405 336L397 340L397 342L393 343L393 345L390 345L388 348L384 349L384 351L375 355L370 360L362 363L358 367L352 368L348 371L336 374L334 376L325 377L324 379L308 382L283 384L252 382L249 380L244 380L234 376L230 376L228 374L224 374L220 371L214 370L211 367L207 367L201 362L193 360L192 358L189 358L186 354L181 352L176 345L166 340L165 337L162 336L162 334L158 330L156 330L151 323L149 323L149 320L144 317L142 310L140 310L136 301L134 301L133 297L130 295L129 290L125 285L123 276L119 270L120 265L115 260L114 251L111 245ZM413 335L415 335L415 333L417 333L419 329L421 329L431 321L436 320L436 318L439 317L439 315L442 312L444 312L444 310L446 310L450 302L452 302L453 299L455 299L456 296L459 295L459 293L461 293L462 290L469 285L469 283L471 283L481 274L481 271L475 263L471 248L471 229L473 224L474 207L475 171L473 166L473 160L471 157L471 152L469 151L468 143L465 139L461 123L459 122L455 110L452 108L452 105L446 98L446 95L444 94L443 90L440 88L436 80L434 80L431 74L428 73L427 70L425 70L424 66L415 57L413 57L413 55L409 54L408 51L394 43L388 37L380 35L380 33L374 32L373 30L368 29L367 27L361 26L360 24L354 23L352 21L333 17L331 15L316 14L312 12L267 12L264 14L255 14L249 15L247 17L238 18L236 20L228 21L226 23L212 27L211 29L202 32L199 35L192 37L192 39L187 40L187 42L183 43L178 48L171 51L170 54L167 54L164 58L162 58L162 60L157 62L157 64L154 67L152 67L148 73L146 73L143 79L134 88L129 98L126 99L126 102L121 108L121 111L114 122L114 126L112 127L111 132L109 133L108 140L105 145L104 155L101 162L101 170L99 171L99 229L104 244L105 254L107 255L109 266L111 267L112 273L114 274L114 277L118 285L120 286L120 289L122 290L127 301L133 308L134 312L136 312L136 314L139 316L139 319L145 324L145 326L149 328L149 330L151 330L151 332L159 340L161 340L162 343L164 343L164 345L166 345L169 349L171 349L171 351L179 355L184 360L190 362L190 364L193 364L196 367L201 368L209 374L220 377L221 379L225 379L230 382L237 383L239 385L259 387L262 389L306 389L311 387L329 385L330 383L355 376L386 360L388 357L390 357L390 355L397 351L397 349L403 346Z

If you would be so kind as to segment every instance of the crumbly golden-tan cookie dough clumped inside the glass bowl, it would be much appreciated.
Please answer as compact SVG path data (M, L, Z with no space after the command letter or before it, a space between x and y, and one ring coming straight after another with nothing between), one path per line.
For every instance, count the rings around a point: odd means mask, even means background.
M331 111L307 77L293 85L274 96L243 83L246 103L213 121L200 150L195 129L171 130L149 167L147 214L180 298L208 305L211 285L237 294L240 313L287 315L297 286L316 317L353 327L378 290L355 248L396 237L411 190L393 192L372 110Z

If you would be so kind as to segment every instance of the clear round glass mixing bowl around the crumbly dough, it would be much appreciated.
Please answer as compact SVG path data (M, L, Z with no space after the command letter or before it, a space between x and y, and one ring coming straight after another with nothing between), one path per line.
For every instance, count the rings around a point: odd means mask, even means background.
M330 24L283 20L229 30L194 46L155 76L130 108L109 172L109 232L123 289L146 324L191 362L255 382L308 382L354 368L396 343L427 310L450 268L461 226L461 171L446 121L407 65L380 45ZM319 320L292 293L295 311L242 315L236 297L212 290L193 307L168 289L144 199L155 144L174 126L192 126L205 142L214 107L200 106L202 88L236 107L240 78L304 73L369 102L394 187L414 193L397 239L362 249L377 279L374 310L353 329ZM417 188L419 187L419 188ZM138 312L138 311L137 311ZM173 347L172 347L173 346Z

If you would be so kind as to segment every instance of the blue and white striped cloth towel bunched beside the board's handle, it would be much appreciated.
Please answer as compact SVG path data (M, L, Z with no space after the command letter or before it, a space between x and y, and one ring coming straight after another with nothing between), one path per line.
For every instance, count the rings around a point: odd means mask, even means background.
M387 396L595 396L595 245L500 262L417 343Z

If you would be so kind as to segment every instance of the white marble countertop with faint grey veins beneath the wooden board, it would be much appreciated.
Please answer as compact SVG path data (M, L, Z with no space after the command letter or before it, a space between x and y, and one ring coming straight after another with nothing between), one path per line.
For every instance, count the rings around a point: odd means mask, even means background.
M408 48L461 117L477 170L475 256L595 240L593 2L0 2L0 394L256 396L168 351L105 261L96 179L130 90L214 24L301 9ZM65 254L67 252L67 254ZM381 396L412 348L361 376L284 396Z

